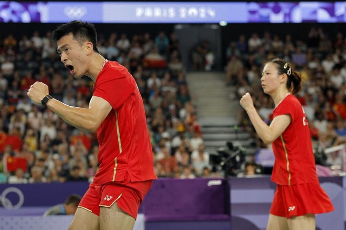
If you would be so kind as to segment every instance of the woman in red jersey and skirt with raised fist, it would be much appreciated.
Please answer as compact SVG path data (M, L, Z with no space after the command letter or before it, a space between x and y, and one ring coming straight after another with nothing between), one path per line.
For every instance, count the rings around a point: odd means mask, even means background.
M270 126L259 117L250 93L242 96L240 104L259 138L272 143L275 155L271 180L277 188L267 230L315 230L315 214L334 207L320 187L305 112L294 96L302 88L302 75L290 63L273 59L265 64L260 80L275 103Z

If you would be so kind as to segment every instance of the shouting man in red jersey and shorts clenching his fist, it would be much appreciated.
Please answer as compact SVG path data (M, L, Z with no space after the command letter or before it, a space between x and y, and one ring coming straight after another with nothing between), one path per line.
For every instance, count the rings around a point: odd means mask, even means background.
M94 81L89 108L68 106L36 82L28 91L69 124L96 132L99 170L83 196L69 230L132 230L139 204L156 179L143 101L129 71L107 61L90 23L73 21L52 34L61 61L75 78Z

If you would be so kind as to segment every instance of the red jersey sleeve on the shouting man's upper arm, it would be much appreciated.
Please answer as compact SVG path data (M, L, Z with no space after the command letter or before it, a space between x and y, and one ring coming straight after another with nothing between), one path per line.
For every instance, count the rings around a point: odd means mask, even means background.
M108 101L114 109L118 109L133 92L130 76L118 77L99 83L93 93Z

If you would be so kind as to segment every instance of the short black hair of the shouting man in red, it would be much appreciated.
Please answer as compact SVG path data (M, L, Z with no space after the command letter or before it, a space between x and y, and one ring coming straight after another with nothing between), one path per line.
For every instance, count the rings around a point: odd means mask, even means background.
M72 34L73 38L83 44L85 41L89 41L93 45L93 50L98 52L97 49L97 34L95 26L88 22L72 21L66 24L62 24L53 31L51 40L54 42L59 41L62 37L68 34Z

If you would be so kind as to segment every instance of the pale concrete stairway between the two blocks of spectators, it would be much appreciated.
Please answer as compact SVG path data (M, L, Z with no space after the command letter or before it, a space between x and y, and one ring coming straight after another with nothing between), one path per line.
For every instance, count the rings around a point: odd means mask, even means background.
M235 129L241 106L234 96L236 89L225 86L225 74L191 72L187 74L187 82L190 92L194 95L206 150L216 154L217 147L224 147L227 141L232 141L242 145L246 149L246 155L254 154L255 149L250 146L250 135Z

